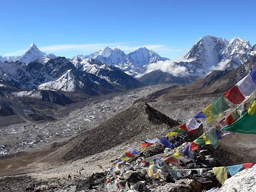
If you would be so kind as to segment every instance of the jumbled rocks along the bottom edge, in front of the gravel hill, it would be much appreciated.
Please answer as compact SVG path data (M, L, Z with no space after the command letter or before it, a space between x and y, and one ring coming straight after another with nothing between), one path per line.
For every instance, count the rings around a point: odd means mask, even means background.
M171 141L175 143L174 147L179 146L184 141L190 142L202 134L202 127L194 134L182 134L176 136ZM195 162L184 159L182 164L176 166L180 169L193 169L189 174L184 174L180 178L173 178L170 174L161 175L158 178L148 176L147 168L153 159L160 158L168 151L163 144L157 142L149 146L145 151L130 158L121 169L112 169L106 172L85 176L80 171L69 174L63 178L50 178L48 180L36 180L30 176L12 176L0 179L0 188L2 191L35 191L35 192L205 192L212 188L219 188L217 191L256 191L256 166L251 169L245 169L235 176L228 174L228 180L222 186L212 170L216 166L226 166L230 164L242 163L244 159L233 156L223 156L226 151L219 147L215 150L211 146L206 146L194 153ZM233 154L234 155L234 154ZM240 162L239 162L240 161ZM142 163L143 162L143 163ZM140 163L140 164L138 164ZM113 164L115 166L115 163ZM132 176L125 178L123 181L118 175L125 171L133 171ZM194 171L197 168L205 168L204 175ZM125 169L125 170L124 170ZM161 168L162 169L162 168ZM116 176L113 177L113 174ZM123 176L125 176L123 174ZM112 181L112 184L111 182Z

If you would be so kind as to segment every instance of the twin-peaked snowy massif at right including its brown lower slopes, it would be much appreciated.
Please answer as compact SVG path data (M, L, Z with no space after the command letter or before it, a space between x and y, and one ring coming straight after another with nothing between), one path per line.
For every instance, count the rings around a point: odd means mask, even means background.
M249 41L242 38L235 37L228 41L224 38L207 35L194 44L182 61L172 62L176 68L185 69L179 74L172 74L172 71L154 70L144 74L138 80L147 84L174 82L187 84L198 78L204 78L216 70L230 71L237 68L254 55L256 55L256 46L252 47ZM161 64L165 65L165 63Z

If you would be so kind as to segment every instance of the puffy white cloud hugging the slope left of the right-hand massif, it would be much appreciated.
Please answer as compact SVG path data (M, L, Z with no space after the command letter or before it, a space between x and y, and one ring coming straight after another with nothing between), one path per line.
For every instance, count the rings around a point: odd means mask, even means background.
M167 72L172 74L173 76L186 76L188 73L186 72L186 67L180 66L176 64L175 62L191 62L194 59L188 59L185 60L180 56L176 60L166 60L166 61L158 61L156 63L149 64L147 67L147 70L144 74L156 71L156 70L161 70L162 72ZM144 74L138 74L136 77L139 78Z

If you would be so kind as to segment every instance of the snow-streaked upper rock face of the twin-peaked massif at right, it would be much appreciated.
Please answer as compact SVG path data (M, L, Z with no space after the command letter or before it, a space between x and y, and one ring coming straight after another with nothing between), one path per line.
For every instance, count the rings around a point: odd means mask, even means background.
M195 61L178 64L185 66L191 75L204 76L212 70L236 68L244 64L248 60L247 54L251 48L248 41L238 37L227 41L224 38L207 35L200 38L184 57L195 58Z

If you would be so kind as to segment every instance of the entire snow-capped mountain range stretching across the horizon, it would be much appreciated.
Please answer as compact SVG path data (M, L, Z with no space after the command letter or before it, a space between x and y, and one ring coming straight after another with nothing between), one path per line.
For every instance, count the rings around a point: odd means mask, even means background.
M22 89L78 90L95 95L136 88L142 83L187 84L215 70L237 68L255 54L256 46L242 38L226 40L210 35L200 38L181 61L161 57L145 47L128 54L106 47L68 59L41 52L31 44L22 56L0 56L0 79ZM174 74L161 68L168 68L170 63L170 68L182 70ZM157 67L150 71L152 64ZM131 76L141 76L138 80L142 83Z

